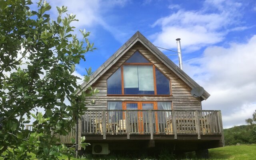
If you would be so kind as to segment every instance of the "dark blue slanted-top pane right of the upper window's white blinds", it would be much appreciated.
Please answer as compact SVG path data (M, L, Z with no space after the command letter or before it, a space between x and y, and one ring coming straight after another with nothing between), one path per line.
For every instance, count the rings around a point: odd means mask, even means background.
M156 68L156 94L170 95L170 80Z

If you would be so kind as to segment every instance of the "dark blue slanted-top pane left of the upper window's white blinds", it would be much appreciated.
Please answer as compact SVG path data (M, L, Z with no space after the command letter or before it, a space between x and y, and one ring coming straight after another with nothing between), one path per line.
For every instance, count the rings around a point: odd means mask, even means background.
M108 94L122 94L121 68L118 68L107 80Z

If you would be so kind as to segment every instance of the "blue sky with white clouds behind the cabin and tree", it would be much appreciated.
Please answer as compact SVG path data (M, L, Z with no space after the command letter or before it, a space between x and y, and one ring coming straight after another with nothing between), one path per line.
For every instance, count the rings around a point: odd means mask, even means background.
M73 25L90 31L98 48L76 66L77 75L88 67L96 70L136 31L170 50L181 38L184 71L211 94L203 109L222 110L226 128L245 124L256 110L255 0L54 0L50 5L52 18L56 6L68 6L79 20ZM169 58L178 64L178 56Z

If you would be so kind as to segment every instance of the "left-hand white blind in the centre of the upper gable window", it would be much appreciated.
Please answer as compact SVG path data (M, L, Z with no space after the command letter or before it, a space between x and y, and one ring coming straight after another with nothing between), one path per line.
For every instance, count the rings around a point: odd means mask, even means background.
M138 88L137 66L124 66L124 88Z

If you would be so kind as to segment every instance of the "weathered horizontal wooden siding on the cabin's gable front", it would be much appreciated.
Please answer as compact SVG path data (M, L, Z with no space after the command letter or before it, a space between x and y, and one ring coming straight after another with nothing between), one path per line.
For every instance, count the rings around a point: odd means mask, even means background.
M107 78L111 76L136 50L139 50L148 60L150 60L160 71L162 71L171 80L171 96L109 96L107 95ZM88 109L106 109L107 101L172 101L174 110L201 110L201 102L199 98L191 96L190 90L178 76L160 62L148 49L140 42L137 42L130 48L124 56L120 58L105 74L103 74L94 84L92 88L97 88L100 92L97 96L88 99L95 99L94 105L88 106Z

